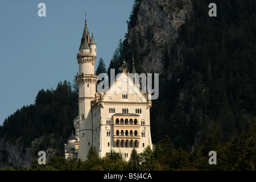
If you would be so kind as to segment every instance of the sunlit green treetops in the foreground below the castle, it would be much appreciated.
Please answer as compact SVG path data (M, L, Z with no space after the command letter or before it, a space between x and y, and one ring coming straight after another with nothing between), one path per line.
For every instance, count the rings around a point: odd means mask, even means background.
M96 147L90 147L88 159L85 161L76 159L65 159L60 156L53 156L46 162L46 165L39 165L38 159L34 160L32 168L34 171L168 171L168 170L227 170L227 171L255 171L256 164L256 125L250 126L248 133L243 133L241 138L234 138L226 145L220 144L220 130L215 126L203 145L195 146L191 152L179 147L175 150L174 143L169 136L165 136L156 144L154 150L149 146L143 152L137 153L133 148L129 162L126 162L121 152L112 148L109 155L104 158L98 157ZM216 147L218 146L218 147ZM217 164L210 165L208 152L214 150L217 153ZM6 167L3 170L14 170L13 167ZM19 170L28 170L19 168Z

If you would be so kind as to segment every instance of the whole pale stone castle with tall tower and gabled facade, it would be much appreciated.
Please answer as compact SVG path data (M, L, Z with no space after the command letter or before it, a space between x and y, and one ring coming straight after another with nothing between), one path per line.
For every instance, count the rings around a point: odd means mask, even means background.
M139 84L129 77L123 62L121 75L107 92L96 89L98 76L94 75L96 42L89 35L86 18L77 62L79 75L79 115L74 119L75 134L65 144L65 158L86 160L88 150L95 146L102 158L110 150L121 152L129 160L133 148L138 153L150 146L151 94L142 93ZM133 68L131 73L135 73Z

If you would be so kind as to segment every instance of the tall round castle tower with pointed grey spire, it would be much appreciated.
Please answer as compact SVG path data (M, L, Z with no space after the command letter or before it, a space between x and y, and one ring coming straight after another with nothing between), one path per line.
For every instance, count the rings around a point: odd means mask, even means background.
M79 64L79 75L76 82L79 85L79 158L85 160L87 151L92 145L92 113L90 103L95 100L97 76L94 75L94 64L96 61L96 43L90 38L87 22L82 34L77 63Z

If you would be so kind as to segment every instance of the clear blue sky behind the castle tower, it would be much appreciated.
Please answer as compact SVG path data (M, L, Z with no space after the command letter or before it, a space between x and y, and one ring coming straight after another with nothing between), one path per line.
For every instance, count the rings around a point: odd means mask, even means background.
M46 17L38 4L46 4ZM34 104L40 89L72 82L78 72L85 13L90 35L108 68L133 0L3 0L0 1L0 125L24 105Z

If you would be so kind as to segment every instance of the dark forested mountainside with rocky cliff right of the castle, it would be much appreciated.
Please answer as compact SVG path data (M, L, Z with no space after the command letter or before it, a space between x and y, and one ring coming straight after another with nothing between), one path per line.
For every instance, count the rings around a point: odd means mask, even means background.
M216 17L206 0L135 0L121 55L160 74L153 142L167 134L189 151L214 125L225 143L255 120L255 1L214 3Z

